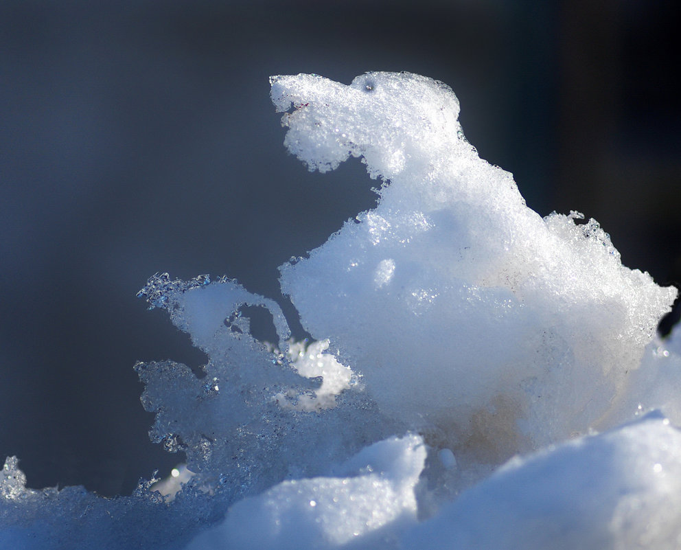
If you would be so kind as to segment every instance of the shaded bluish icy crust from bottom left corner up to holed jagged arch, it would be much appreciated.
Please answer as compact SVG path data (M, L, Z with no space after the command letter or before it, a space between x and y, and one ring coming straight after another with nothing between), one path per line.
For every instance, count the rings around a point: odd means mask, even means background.
M328 473L395 431L365 396L344 395L351 374L327 342L289 349L279 306L232 279L185 282L163 273L139 297L167 310L209 357L200 376L172 360L135 365L142 404L156 413L152 441L185 452L194 475L172 496L150 479L132 496L103 499L79 487L27 489L10 457L0 471L0 548L181 549L244 497ZM253 338L242 306L266 308L279 342ZM321 385L319 376L327 378Z

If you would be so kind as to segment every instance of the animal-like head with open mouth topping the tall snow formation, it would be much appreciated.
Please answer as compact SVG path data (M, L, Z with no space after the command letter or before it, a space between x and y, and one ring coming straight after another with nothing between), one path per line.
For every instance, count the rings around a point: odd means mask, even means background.
M366 73L345 86L300 74L273 76L270 84L277 111L294 108L282 119L285 144L310 170L334 170L352 155L364 157L371 177L391 179L408 161L461 141L457 97L424 76Z

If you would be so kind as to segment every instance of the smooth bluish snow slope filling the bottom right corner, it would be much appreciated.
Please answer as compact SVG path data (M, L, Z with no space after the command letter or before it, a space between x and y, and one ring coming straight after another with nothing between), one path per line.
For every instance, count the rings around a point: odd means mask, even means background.
M658 414L516 457L415 527L403 549L673 549L681 433Z

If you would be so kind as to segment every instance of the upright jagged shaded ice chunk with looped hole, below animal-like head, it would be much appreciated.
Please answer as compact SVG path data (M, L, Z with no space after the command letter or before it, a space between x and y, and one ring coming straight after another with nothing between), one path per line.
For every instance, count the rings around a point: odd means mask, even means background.
M354 407L369 406L362 396L348 396L337 409L314 406L335 403L345 386L334 393L319 387L316 372L302 376L304 365L297 368L289 360L290 332L275 302L232 279L211 283L202 277L199 283L163 274L152 277L140 296L168 310L173 323L208 355L205 376L170 360L135 365L145 384L142 404L156 413L152 441L185 452L187 468L200 474L196 483L200 479L227 505L282 479L323 472L328 461L345 459L380 437L382 428L362 426L354 417ZM276 351L251 336L249 319L240 311L244 305L263 306L272 314L280 339ZM303 346L295 349L305 363ZM313 345L308 356L341 367L324 349L323 343ZM325 391L318 396L316 389ZM340 426L338 433L334 428Z

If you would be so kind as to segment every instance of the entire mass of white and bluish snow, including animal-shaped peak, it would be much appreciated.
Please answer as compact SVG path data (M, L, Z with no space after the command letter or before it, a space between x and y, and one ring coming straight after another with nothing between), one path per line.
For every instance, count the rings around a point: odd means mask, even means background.
M354 156L380 180L375 209L281 266L315 341L232 279L154 275L139 295L209 358L135 365L150 437L194 475L102 499L27 490L10 458L0 549L681 547L681 336L655 336L676 289L595 220L527 208L445 84L270 83L310 170Z

